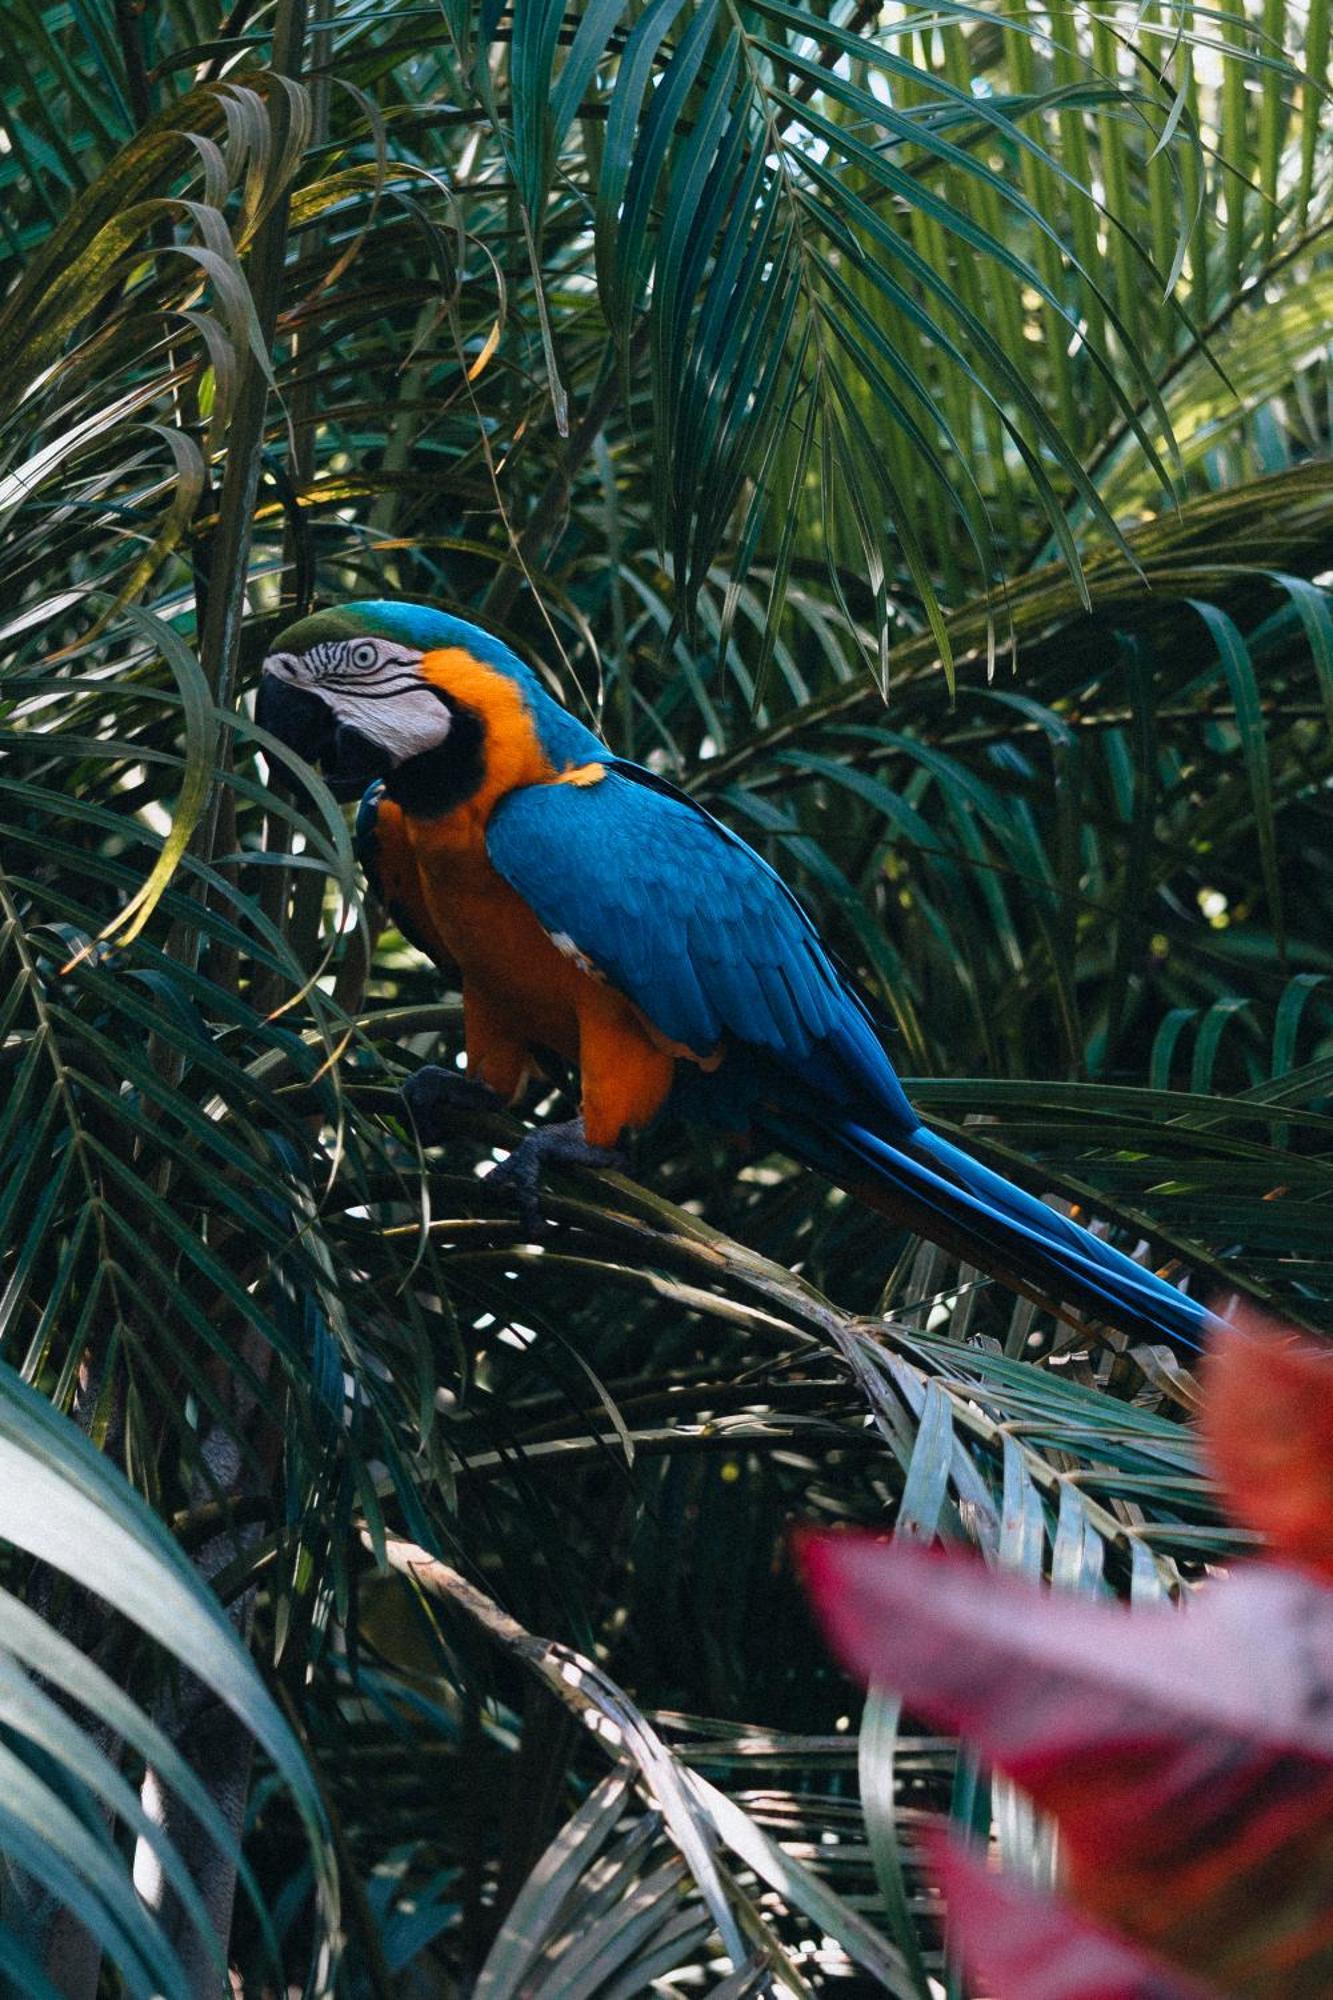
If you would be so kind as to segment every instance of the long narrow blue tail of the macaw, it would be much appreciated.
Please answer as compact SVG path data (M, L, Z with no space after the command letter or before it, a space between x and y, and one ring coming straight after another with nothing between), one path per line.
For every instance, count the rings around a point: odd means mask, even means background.
M1209 1314L1199 1300L993 1174L939 1132L917 1126L909 1140L895 1142L845 1114L825 1112L815 1120L793 1106L767 1106L763 1122L799 1158L871 1206L883 1202L907 1212L969 1264L1135 1338L1203 1344Z

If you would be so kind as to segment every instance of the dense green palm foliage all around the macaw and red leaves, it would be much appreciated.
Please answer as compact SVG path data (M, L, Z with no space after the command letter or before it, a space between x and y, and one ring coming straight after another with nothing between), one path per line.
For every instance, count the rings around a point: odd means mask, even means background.
M863 1714L789 1524L1177 1592L1189 1374L681 1132L524 1244L248 694L310 602L466 608L929 1116L1319 1326L1327 0L2 32L0 1976L218 1986L240 1842L252 1994L959 1994L921 1812L1049 1836Z

